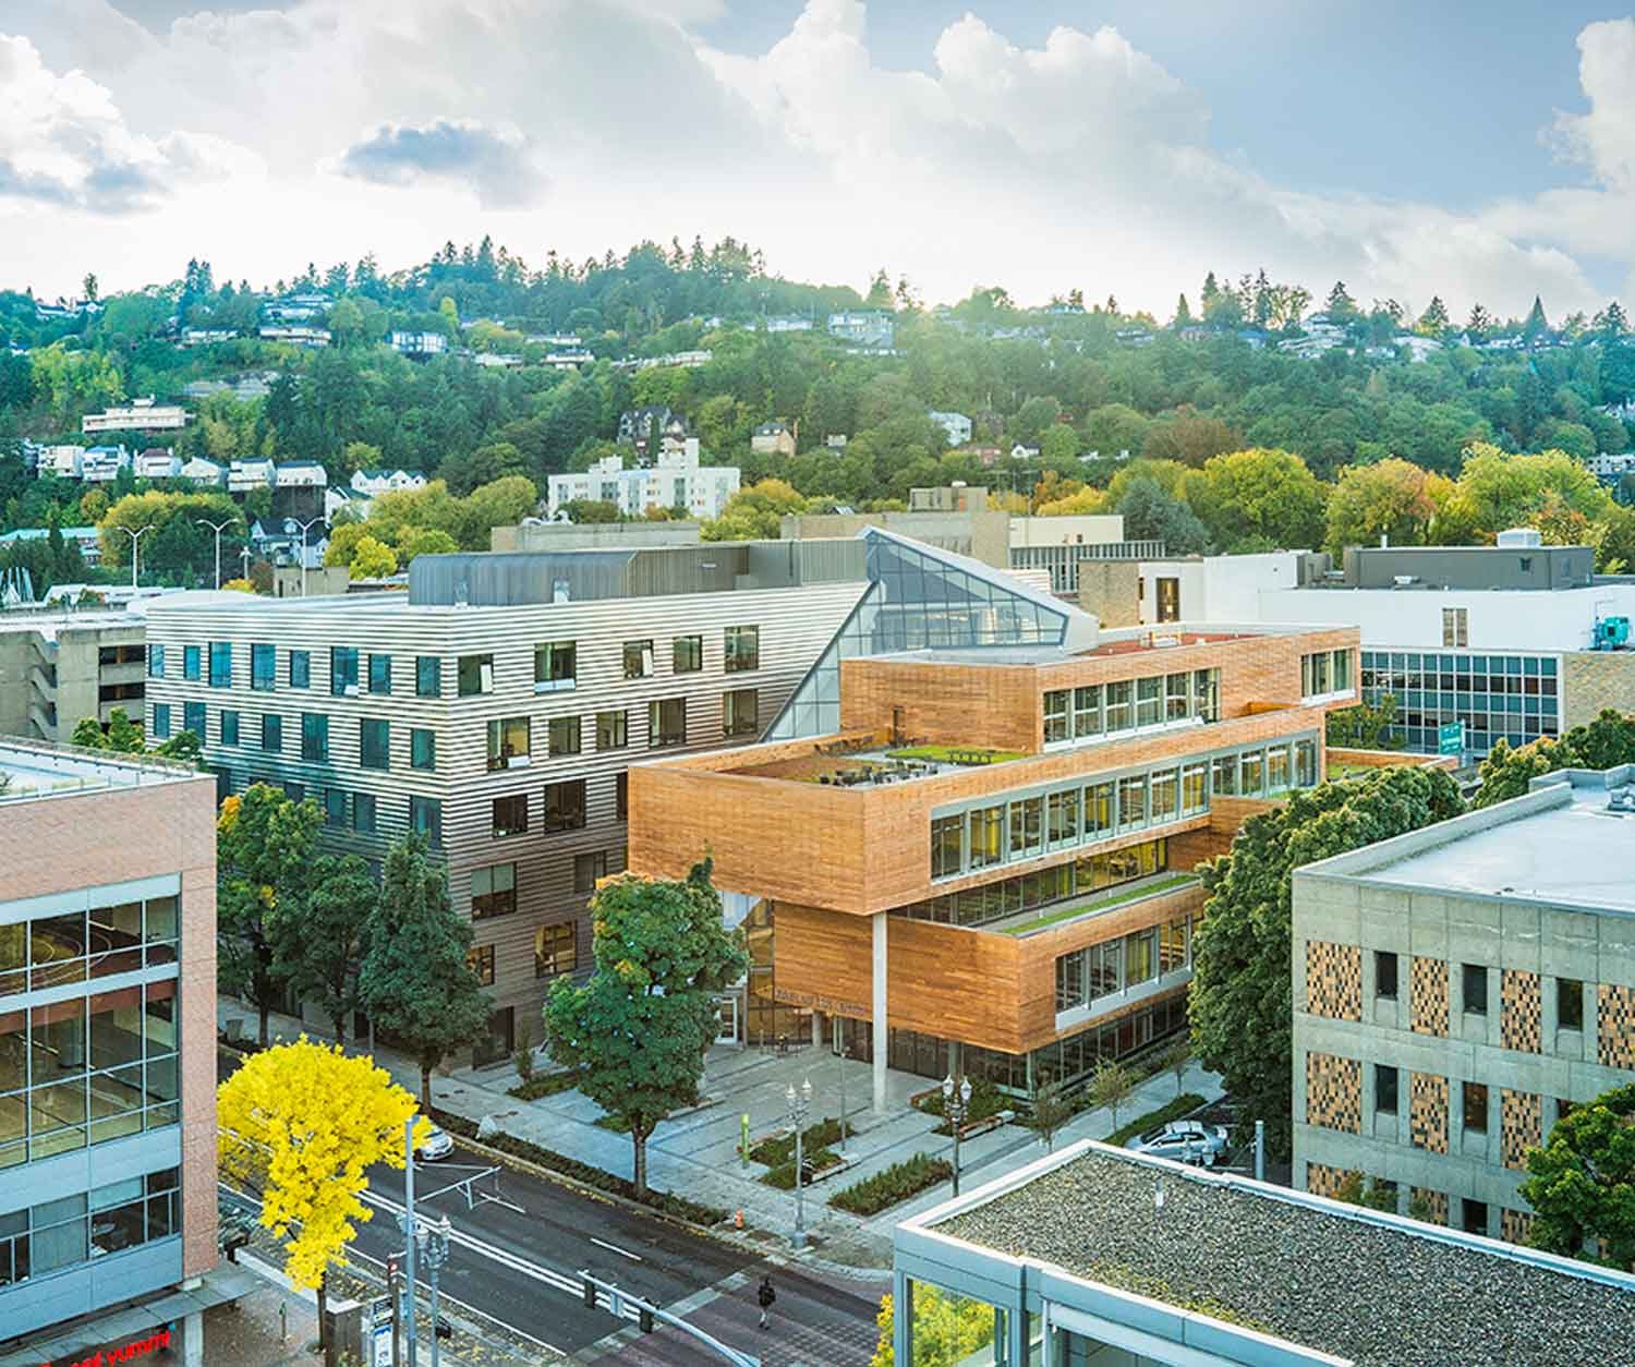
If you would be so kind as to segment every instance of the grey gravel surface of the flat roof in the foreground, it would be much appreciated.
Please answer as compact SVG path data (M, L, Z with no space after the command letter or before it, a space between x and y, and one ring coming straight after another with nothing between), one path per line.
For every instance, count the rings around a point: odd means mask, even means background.
M937 1223L953 1238L1357 1364L1609 1362L1635 1292L1478 1248L1084 1156Z

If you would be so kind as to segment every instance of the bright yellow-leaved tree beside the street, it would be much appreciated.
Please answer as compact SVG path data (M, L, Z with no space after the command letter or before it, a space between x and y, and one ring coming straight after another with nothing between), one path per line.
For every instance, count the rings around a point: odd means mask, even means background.
M319 1295L370 1218L361 1192L376 1163L404 1166L404 1122L415 1099L370 1058L302 1035L249 1058L216 1089L224 1181L262 1200L262 1225L284 1239L284 1272ZM430 1122L415 1127L419 1145Z

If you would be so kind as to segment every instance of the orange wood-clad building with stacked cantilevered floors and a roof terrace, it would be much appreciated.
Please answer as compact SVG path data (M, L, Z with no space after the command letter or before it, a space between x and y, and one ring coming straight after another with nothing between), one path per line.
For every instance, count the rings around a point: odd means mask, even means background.
M945 612L979 618L978 590ZM827 1033L878 1097L888 1063L1025 1092L1182 1029L1192 870L1321 780L1357 631L1074 613L1028 646L916 644L821 664L824 734L785 724L798 693L760 746L631 769L631 868L708 850L747 922L749 1038Z

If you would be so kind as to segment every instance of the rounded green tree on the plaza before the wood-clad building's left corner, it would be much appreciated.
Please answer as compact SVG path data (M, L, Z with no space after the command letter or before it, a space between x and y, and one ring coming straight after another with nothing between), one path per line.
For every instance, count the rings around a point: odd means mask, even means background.
M551 984L544 1040L579 1091L629 1127L636 1192L644 1195L647 1136L698 1102L716 994L747 960L721 926L708 860L680 881L607 881L590 899L590 917L595 973L584 984Z

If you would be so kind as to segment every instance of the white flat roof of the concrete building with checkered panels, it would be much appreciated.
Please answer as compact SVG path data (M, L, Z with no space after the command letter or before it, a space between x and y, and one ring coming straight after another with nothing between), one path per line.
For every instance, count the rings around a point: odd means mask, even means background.
M1306 870L1362 883L1635 914L1635 811L1609 806L1635 769L1558 770L1532 791Z

